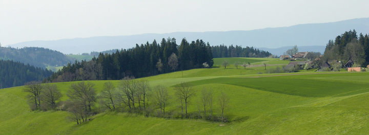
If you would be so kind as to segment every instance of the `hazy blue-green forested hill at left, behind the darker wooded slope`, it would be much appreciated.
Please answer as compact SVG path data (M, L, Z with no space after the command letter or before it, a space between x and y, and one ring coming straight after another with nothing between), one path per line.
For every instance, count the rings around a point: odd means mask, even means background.
M40 47L0 47L0 59L30 64L36 67L64 66L73 59L63 53Z

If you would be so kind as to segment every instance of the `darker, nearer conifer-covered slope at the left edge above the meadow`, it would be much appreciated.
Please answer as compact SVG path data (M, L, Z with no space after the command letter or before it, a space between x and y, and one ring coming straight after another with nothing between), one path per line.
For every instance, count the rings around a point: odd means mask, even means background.
M41 81L51 71L19 62L0 60L0 88L23 86L27 82Z

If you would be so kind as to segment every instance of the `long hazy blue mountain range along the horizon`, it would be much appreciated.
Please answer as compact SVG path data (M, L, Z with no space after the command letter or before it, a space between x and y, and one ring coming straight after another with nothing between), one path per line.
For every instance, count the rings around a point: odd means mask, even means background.
M52 41L27 41L11 44L12 47L38 46L61 51L63 53L83 53L109 49L131 48L135 44L150 43L156 39L174 37L179 43L182 38L187 40L202 39L211 45L241 45L256 48L278 48L298 45L317 49L314 46L325 46L330 39L345 31L355 29L358 33L369 33L369 18L350 19L329 23L299 24L281 28L266 28L251 31L227 32L175 32L166 34L140 34L131 36L104 36L90 38L60 39ZM276 49L270 49L271 51ZM310 51L310 50L309 50ZM319 49L315 51L324 51ZM274 52L273 52L274 53ZM275 51L276 55L280 51ZM279 53L279 54L277 54Z

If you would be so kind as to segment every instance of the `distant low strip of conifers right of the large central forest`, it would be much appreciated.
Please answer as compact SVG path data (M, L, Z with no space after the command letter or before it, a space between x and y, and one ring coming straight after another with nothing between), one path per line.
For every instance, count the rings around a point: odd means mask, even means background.
M243 48L242 46L226 46L226 45L219 45L219 46L212 46L211 47L213 57L214 58L228 58L228 57L269 57L272 53L268 51L259 50L254 47L246 46Z

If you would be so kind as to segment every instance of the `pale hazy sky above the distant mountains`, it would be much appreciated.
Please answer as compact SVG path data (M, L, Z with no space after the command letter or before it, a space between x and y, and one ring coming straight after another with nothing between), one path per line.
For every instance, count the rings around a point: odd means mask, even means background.
M0 43L254 30L369 17L367 0L0 0Z

